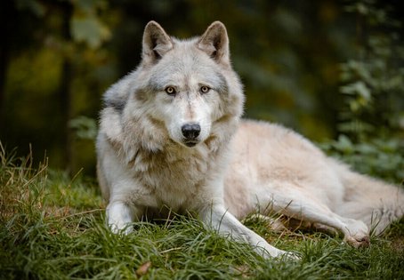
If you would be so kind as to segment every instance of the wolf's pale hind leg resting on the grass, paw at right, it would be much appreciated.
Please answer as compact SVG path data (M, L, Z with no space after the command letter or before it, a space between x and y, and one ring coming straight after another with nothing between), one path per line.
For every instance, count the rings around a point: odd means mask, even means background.
M335 228L343 233L343 240L354 247L369 244L368 226L363 221L339 216L326 204L290 182L284 182L281 185L283 188L279 191L276 191L277 188L271 188L271 193L265 193L263 188L263 192L257 194L257 197L260 197L258 199L260 207L264 209L270 204L272 210L288 217Z

